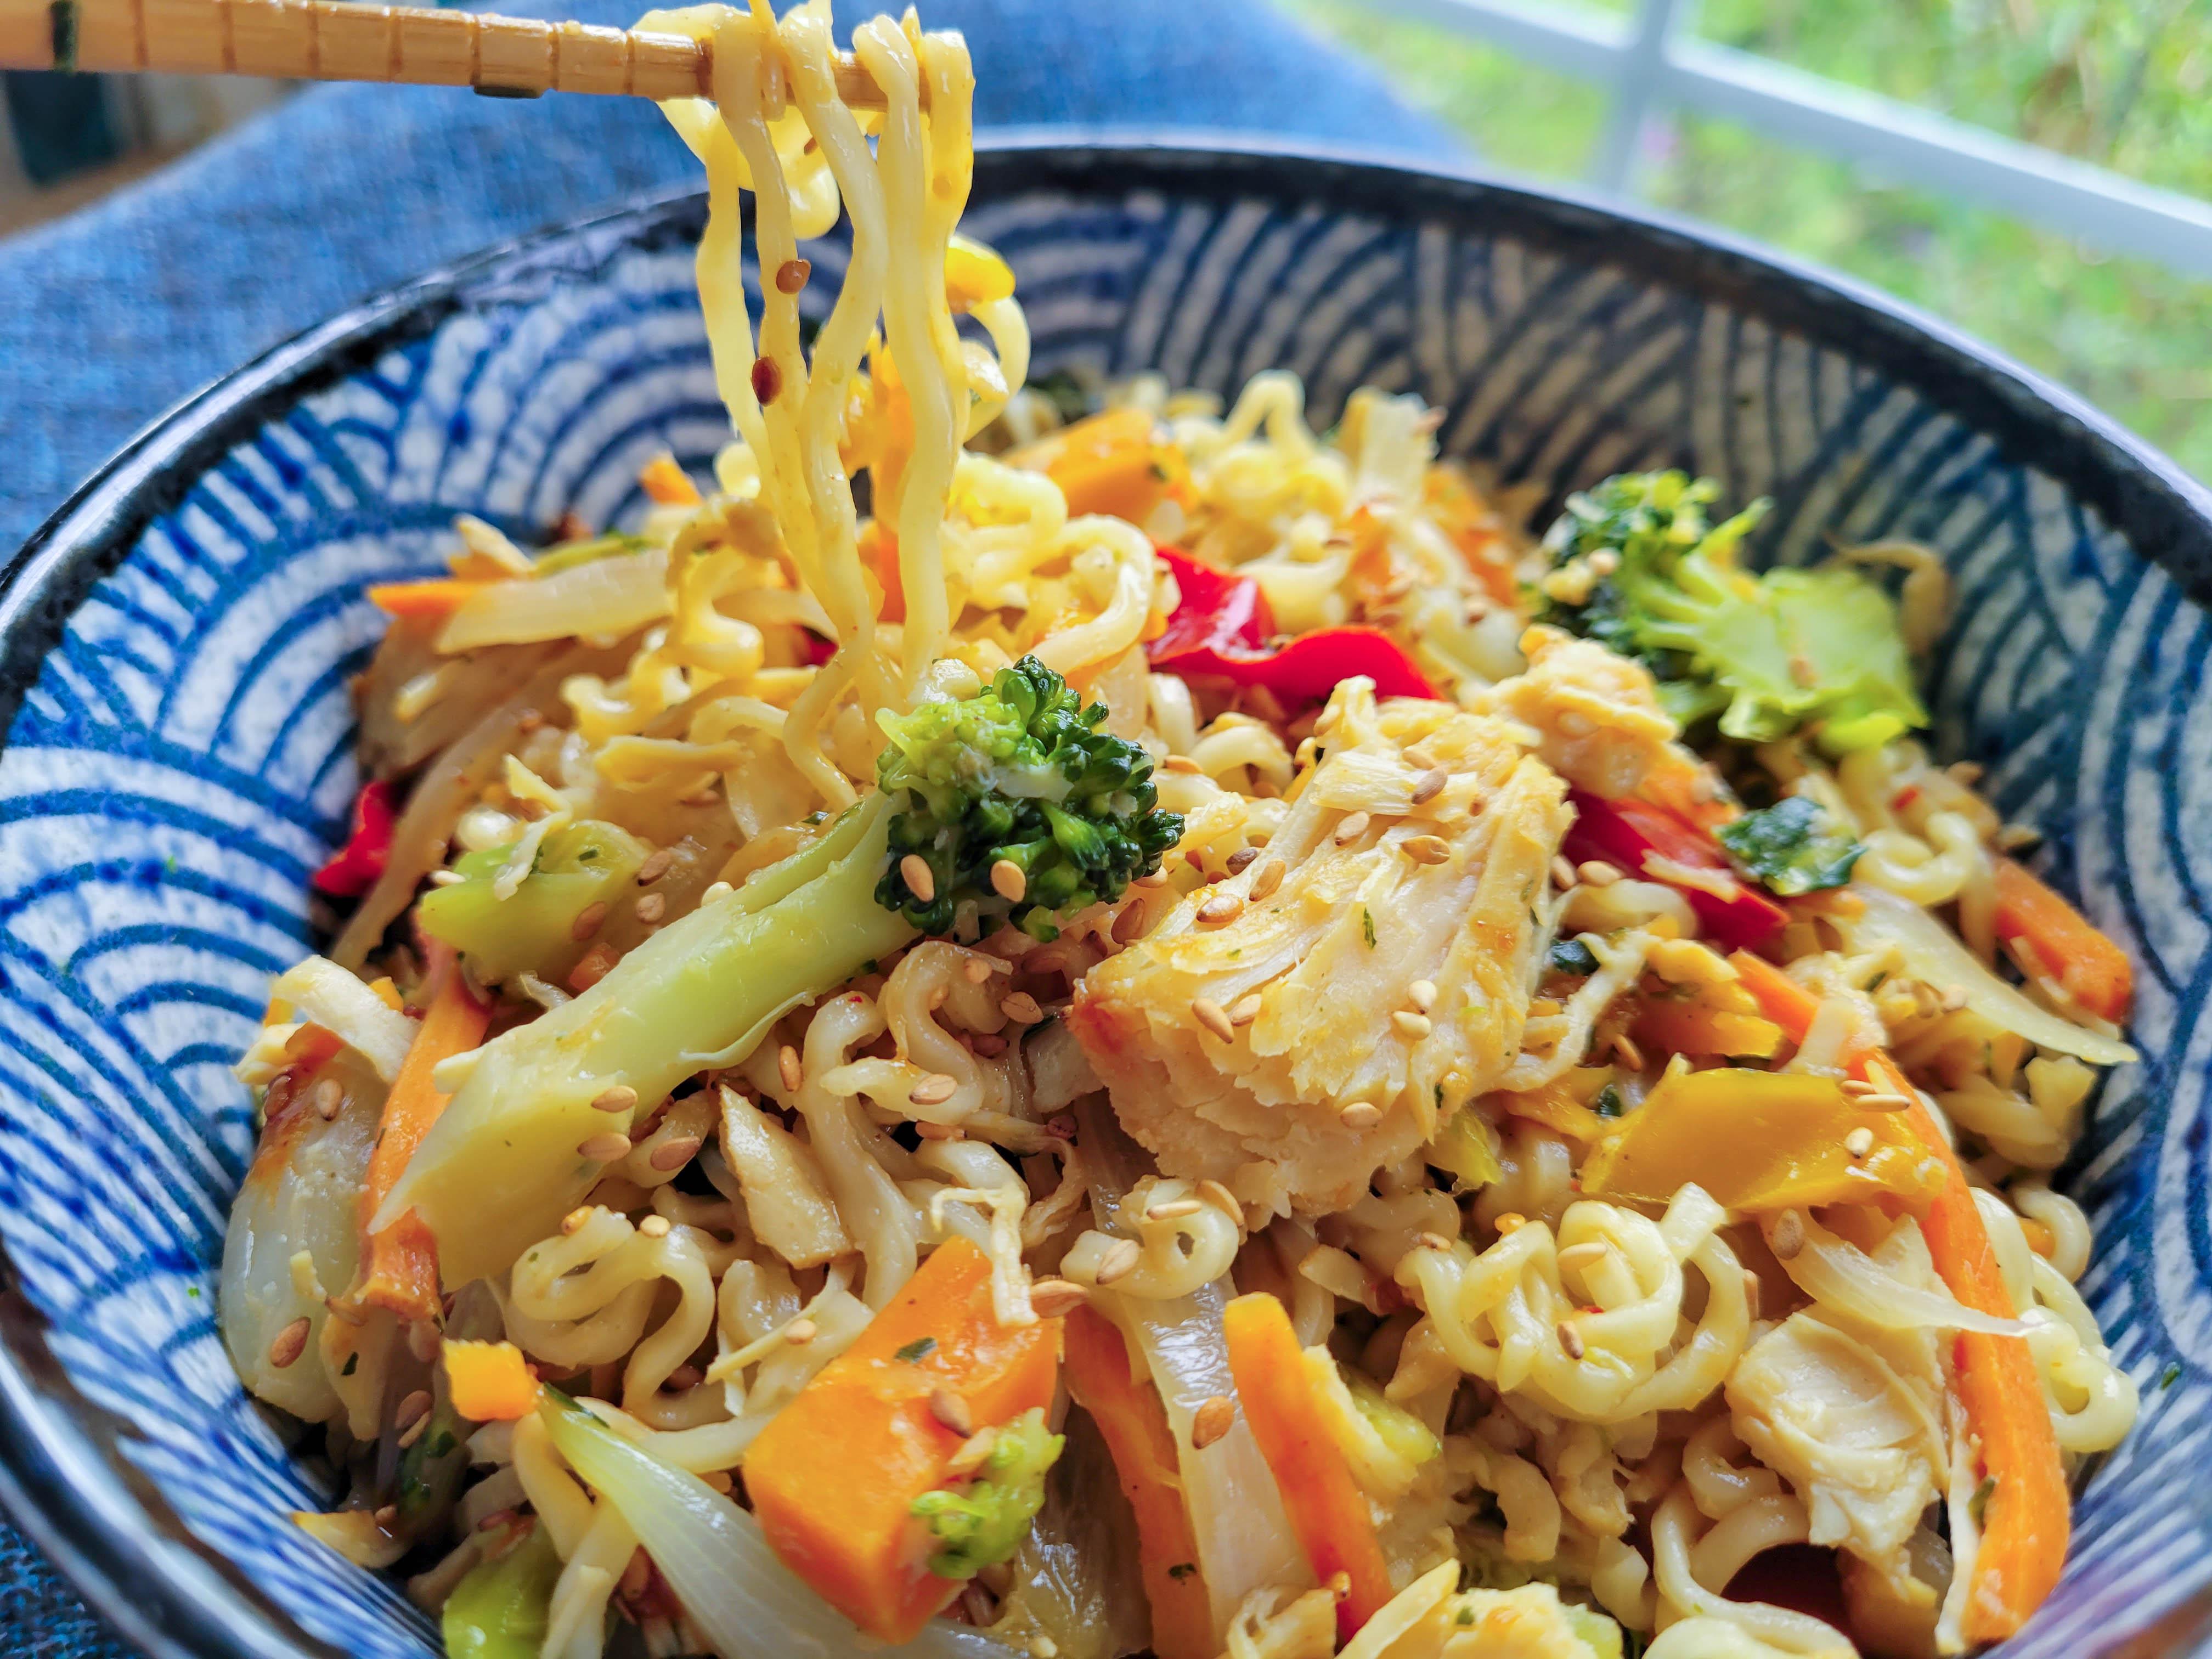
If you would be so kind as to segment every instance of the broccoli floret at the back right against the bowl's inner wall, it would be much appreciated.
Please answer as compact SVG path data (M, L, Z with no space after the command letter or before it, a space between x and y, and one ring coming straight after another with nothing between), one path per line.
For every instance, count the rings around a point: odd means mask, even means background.
M1679 471L1571 495L1537 617L1641 661L1686 728L1719 714L1747 743L1816 728L1847 754L1927 726L1889 595L1849 568L1750 575L1736 544L1765 502L1708 524L1714 495Z

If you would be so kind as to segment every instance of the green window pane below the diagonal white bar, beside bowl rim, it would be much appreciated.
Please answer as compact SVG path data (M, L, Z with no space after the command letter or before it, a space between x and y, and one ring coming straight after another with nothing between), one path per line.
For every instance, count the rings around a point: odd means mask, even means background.
M1887 288L2212 478L2212 281L2108 259L1730 122L1655 133L1646 195Z

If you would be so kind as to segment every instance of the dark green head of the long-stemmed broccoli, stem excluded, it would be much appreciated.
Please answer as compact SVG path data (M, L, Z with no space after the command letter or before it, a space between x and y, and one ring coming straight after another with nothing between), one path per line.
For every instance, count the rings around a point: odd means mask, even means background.
M876 776L885 796L905 792L907 812L891 818L876 900L942 933L960 898L991 894L1004 858L1024 880L1011 918L1042 931L1053 911L1119 898L1159 869L1183 821L1155 810L1152 757L1097 730L1104 719L1102 703L1084 708L1035 657L975 697L883 714L891 745ZM907 854L929 865L927 900L900 874Z

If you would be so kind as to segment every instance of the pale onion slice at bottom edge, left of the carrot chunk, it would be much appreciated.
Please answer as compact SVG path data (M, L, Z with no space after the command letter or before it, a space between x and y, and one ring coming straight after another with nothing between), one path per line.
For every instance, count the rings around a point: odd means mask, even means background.
M896 1648L865 1639L845 1615L801 1584L761 1535L761 1524L646 1447L566 1400L549 1400L546 1429L562 1458L637 1533L684 1610L723 1659L1013 1659L975 1630L933 1621Z

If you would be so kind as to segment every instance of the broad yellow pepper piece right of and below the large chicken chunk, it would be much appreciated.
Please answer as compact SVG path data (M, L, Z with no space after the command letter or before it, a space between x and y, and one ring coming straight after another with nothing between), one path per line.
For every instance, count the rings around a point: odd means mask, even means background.
M1836 1077L1719 1068L1661 1079L1582 1168L1584 1192L1639 1203L1666 1203L1690 1181L1741 1212L1918 1208L1942 1188L1942 1161L1902 1113L1860 1106Z

